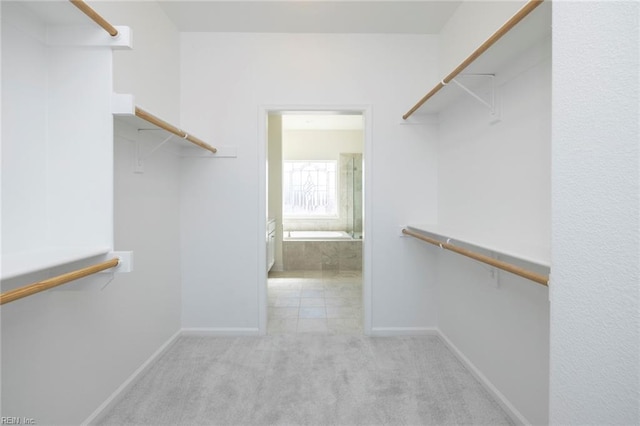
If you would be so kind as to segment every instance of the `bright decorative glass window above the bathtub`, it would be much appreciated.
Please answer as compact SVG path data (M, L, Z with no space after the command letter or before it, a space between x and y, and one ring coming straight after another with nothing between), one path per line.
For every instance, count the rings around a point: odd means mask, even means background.
M337 161L285 161L284 216L337 216Z

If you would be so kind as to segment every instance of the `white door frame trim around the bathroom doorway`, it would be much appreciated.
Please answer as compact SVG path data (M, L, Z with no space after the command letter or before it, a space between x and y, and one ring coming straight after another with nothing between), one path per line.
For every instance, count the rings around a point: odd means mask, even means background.
M342 111L357 112L364 119L364 210L362 241L362 314L364 334L371 334L371 224L372 190L371 164L373 164L372 111L371 105L263 105L258 108L258 175L260 188L258 196L258 327L259 333L267 333L267 119L269 113L288 111Z

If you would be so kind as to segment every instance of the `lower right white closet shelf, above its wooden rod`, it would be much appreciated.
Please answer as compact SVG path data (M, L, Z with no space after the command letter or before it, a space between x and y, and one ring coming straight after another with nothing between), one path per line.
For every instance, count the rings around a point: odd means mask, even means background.
M534 265L551 267L551 250L526 241L497 240L489 235L463 234L454 229L446 229L432 224L407 225L409 230L430 234L442 241L450 239L451 244L466 244L490 253L521 260Z

